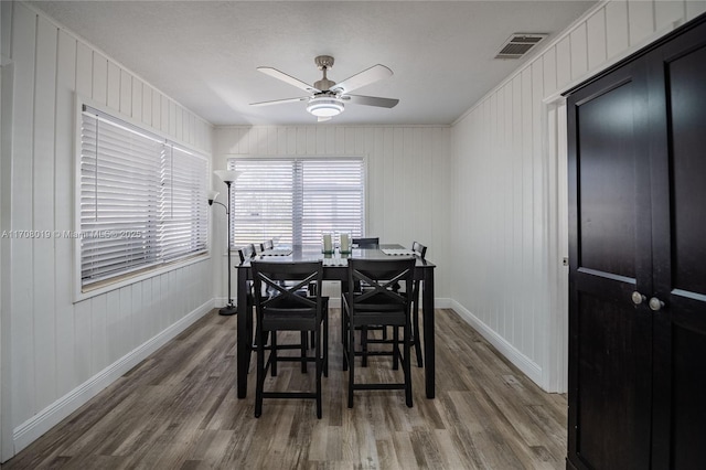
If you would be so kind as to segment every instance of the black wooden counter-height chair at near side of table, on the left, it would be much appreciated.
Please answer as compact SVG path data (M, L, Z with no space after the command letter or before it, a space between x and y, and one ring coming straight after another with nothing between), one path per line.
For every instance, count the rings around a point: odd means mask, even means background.
M321 375L328 376L329 361L329 299L321 296L323 281L322 261L281 263L253 260L255 284L255 310L257 312L257 382L255 391L255 417L263 414L264 398L313 398L317 400L317 417L321 418ZM282 282L286 281L286 282ZM311 295L302 295L302 288L315 284ZM278 333L300 332L301 343L280 345ZM308 332L314 335L314 354L308 355L304 341ZM266 348L267 335L270 345ZM299 349L299 355L279 356L282 349ZM265 351L269 351L265 361ZM270 366L272 374L278 361L300 362L301 372L307 372L307 363L315 364L314 392L268 392L265 377Z

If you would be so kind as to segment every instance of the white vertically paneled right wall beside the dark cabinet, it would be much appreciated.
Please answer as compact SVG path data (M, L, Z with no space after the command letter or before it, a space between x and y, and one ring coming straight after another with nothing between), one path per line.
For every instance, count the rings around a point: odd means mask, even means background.
M704 1L601 3L452 128L450 243L460 250L449 260L452 303L546 389L566 388L568 312L560 289L568 271L560 266L565 239L557 238L566 224L557 196L566 177L557 173L561 129L549 126L561 109L555 100L704 11Z

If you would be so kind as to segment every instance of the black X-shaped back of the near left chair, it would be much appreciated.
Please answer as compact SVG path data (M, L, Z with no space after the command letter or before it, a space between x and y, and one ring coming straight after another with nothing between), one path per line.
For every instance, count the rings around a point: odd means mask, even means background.
M291 318L292 328L301 327L302 321L319 324L323 307L320 295L323 281L321 260L253 260L252 268L257 319L265 329L268 329L268 319L278 321L278 328L282 328L281 323L287 318ZM302 289L313 295L303 295Z

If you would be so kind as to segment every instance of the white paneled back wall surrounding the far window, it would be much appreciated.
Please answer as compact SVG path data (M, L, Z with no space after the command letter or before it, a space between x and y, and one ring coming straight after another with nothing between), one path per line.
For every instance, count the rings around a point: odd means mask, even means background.
M427 245L427 258L439 267L435 277L437 305L449 297L450 129L443 126L235 126L218 127L214 169L226 168L229 156L363 156L367 161L366 235L381 243L413 241ZM225 184L214 179L214 189ZM214 217L214 246L225 247L225 215ZM214 214L215 215L215 214ZM225 249L224 249L225 250ZM217 253L217 250L214 250ZM214 276L225 277L225 265ZM233 276L235 292L235 276ZM225 281L221 293L225 297Z

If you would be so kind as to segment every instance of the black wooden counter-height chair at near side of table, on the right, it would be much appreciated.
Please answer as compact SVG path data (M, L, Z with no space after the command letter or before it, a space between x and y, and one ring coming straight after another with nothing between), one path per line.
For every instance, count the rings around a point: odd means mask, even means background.
M353 392L356 389L404 389L407 406L413 406L411 400L411 319L410 297L396 291L393 287L400 284L407 292L413 290L413 275L415 258L395 259L349 259L349 290L342 292L341 305L343 311L343 324L345 337L343 339L343 370L349 370L349 408L353 407ZM355 289L355 282L365 282L362 291ZM368 327L384 325L393 328L392 349L367 351L366 342L360 350L355 348L355 331L361 328L361 334L365 335ZM402 345L399 351L399 329L403 329ZM368 355L391 355L393 368L398 368L402 362L403 383L355 383L355 356L363 359Z

